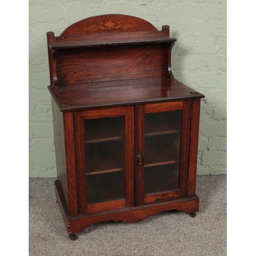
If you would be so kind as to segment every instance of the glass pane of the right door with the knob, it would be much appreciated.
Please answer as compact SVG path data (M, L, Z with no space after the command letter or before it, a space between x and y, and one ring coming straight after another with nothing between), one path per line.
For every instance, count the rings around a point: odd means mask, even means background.
M145 115L145 195L179 189L181 115L181 110Z

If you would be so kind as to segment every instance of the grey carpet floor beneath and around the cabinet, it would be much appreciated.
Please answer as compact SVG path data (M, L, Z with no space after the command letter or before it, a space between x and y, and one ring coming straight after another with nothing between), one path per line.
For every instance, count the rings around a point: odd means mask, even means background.
M139 223L94 224L71 241L54 194L56 178L29 178L29 252L34 255L226 255L226 175L198 176L196 218L161 212Z

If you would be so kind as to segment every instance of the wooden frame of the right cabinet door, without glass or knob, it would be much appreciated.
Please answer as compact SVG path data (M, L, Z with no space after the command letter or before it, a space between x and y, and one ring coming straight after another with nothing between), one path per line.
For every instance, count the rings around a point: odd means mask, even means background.
M191 100L137 105L135 107L135 156L142 155L141 165L135 162L135 205L168 201L187 196ZM182 110L179 189L144 196L145 114ZM137 160L137 159L135 159Z

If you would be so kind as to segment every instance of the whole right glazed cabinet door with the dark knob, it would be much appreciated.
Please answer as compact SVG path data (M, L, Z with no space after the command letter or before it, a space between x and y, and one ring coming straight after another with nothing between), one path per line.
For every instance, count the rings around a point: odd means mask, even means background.
M136 106L136 205L186 197L190 100Z

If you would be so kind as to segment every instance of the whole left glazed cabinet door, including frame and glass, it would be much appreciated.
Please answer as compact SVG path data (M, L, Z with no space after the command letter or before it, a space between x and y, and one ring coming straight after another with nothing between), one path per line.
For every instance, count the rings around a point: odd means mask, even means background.
M134 106L74 113L78 212L134 205Z

